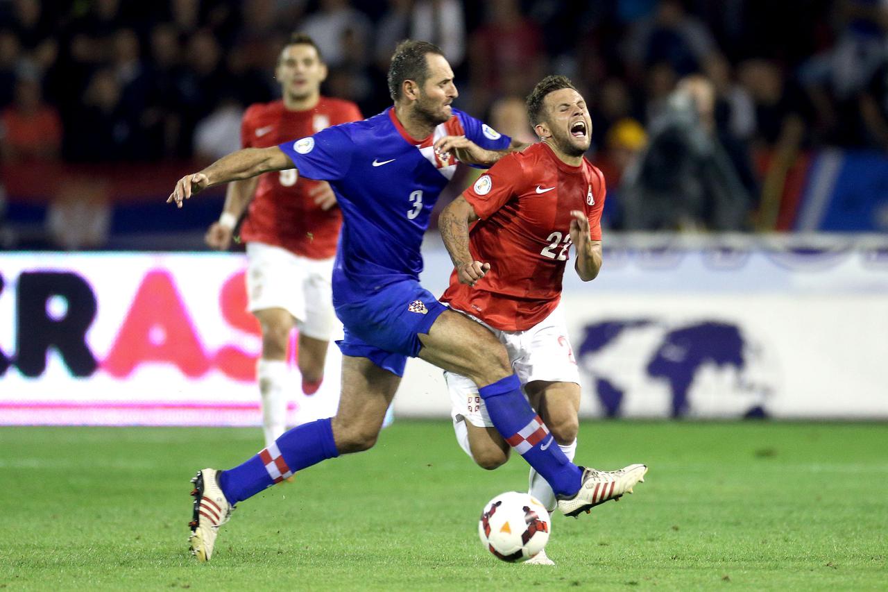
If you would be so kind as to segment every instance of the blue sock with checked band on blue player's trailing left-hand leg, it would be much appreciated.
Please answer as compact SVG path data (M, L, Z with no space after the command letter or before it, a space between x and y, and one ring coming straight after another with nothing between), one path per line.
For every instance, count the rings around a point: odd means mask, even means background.
M305 423L284 432L274 444L250 460L222 471L218 477L219 489L234 506L296 471L337 456L339 452L333 441L329 418Z

